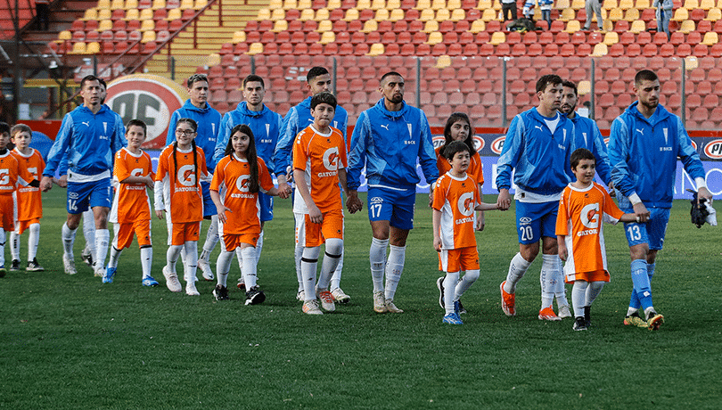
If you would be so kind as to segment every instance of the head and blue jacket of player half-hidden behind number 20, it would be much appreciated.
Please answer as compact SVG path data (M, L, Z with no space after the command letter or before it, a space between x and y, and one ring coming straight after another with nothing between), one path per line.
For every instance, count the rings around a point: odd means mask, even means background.
M575 140L577 148L587 148L595 154L596 172L602 178L604 184L609 186L610 191L614 188L611 183L611 169L609 168L609 156L607 155L607 144L604 143L602 133L596 126L594 119L587 119L574 111L577 108L578 94L577 85L569 80L562 82L564 88L562 94L562 105L559 111L571 119L574 123ZM613 191L612 191L613 192Z

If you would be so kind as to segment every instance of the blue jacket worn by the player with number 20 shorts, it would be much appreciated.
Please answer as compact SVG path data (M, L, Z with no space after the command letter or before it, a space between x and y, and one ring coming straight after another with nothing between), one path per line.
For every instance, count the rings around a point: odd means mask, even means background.
M529 193L562 193L571 181L569 157L576 146L574 123L558 113L554 135L534 107L512 119L504 148L496 162L496 187L501 190L514 184Z

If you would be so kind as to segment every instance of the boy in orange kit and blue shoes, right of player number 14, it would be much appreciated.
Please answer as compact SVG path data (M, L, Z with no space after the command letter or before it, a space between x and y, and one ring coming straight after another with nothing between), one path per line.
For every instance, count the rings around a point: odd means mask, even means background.
M126 127L127 147L115 154L113 186L116 188L111 209L111 223L115 236L111 258L105 269L103 283L112 283L118 270L120 252L129 248L133 234L138 238L144 286L157 286L151 276L153 248L151 242L151 199L146 187L153 189L154 177L151 156L141 150L147 127L140 119L131 119Z

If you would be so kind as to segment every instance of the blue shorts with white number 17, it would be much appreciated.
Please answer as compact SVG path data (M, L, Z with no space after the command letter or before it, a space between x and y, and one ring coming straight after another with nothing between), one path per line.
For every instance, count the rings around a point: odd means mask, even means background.
M414 228L416 190L398 191L390 188L368 188L368 219L389 221L398 229Z

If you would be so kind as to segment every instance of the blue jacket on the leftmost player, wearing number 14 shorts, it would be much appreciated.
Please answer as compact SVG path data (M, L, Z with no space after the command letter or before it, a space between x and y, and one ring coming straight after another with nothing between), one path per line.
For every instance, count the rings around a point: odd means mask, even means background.
M102 105L96 114L81 105L62 118L61 128L47 154L44 176L99 176L113 168L113 155L127 145L126 127L118 114ZM70 182L78 177L69 175Z

